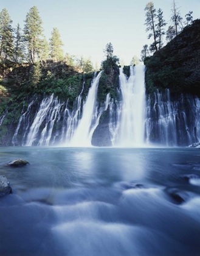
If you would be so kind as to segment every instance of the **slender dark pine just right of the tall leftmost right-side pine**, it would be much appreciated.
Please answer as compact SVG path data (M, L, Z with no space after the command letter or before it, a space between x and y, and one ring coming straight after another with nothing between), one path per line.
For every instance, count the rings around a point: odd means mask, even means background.
M165 35L164 27L167 25L167 23L164 20L163 12L160 8L157 10L156 18L156 37L158 38L158 49L160 49L163 46L162 37Z

